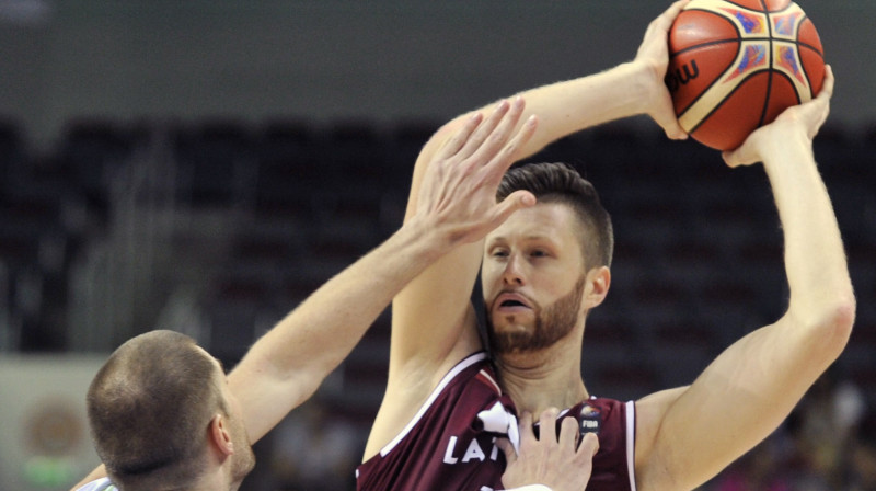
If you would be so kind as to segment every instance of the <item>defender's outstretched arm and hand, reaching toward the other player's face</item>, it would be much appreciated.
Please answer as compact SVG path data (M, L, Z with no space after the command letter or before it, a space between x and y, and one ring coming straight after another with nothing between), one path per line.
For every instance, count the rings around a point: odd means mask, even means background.
M229 384L253 442L316 390L407 282L534 204L527 193L498 205L493 196L535 119L515 133L506 128L502 145L492 146L471 138L481 123L480 115L472 116L433 156L417 208L397 232L314 292L231 372Z

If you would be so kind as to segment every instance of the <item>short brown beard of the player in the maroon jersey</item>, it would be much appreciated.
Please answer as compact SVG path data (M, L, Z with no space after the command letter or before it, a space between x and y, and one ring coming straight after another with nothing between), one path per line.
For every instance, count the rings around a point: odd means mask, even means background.
M554 345L568 335L578 322L586 279L587 277L581 275L572 292L548 307L533 305L535 326L531 332L519 330L496 332L491 312L487 311L484 317L493 353L502 355L539 351ZM489 306L486 308L488 309Z

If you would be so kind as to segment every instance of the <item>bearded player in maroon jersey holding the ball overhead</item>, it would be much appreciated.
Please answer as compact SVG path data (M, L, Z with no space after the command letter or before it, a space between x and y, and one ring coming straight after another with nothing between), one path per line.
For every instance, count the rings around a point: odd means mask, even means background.
M683 5L652 22L633 61L526 91L526 107L520 100L498 103L520 119L539 114L539 134L521 153L635 114L683 138L664 84L667 33ZM512 460L519 439L517 414L525 427L530 414L550 407L564 409L563 423L573 420L581 433L598 434L592 477L580 490L691 490L765 438L839 356L854 320L843 244L811 144L832 90L828 69L814 101L787 110L723 156L731 168L763 163L785 238L786 312L729 346L691 386L636 401L596 398L580 374L587 313L611 284L609 215L590 183L566 165L508 172L498 198L526 190L538 204L516 212L485 240L441 258L393 301L387 392L358 489L502 489L503 453ZM451 121L424 147L411 217L433 155L466 117ZM495 369L470 301L479 266ZM503 433L507 442L497 439Z

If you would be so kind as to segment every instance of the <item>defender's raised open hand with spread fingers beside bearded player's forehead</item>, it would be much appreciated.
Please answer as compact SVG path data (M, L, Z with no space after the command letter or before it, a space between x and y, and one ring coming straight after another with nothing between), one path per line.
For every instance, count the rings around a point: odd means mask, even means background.
M481 113L439 149L429 163L417 198L416 216L434 224L452 244L480 240L515 210L535 204L520 191L496 203L496 190L505 171L535 132L530 117L515 132L523 100L500 102L484 119Z

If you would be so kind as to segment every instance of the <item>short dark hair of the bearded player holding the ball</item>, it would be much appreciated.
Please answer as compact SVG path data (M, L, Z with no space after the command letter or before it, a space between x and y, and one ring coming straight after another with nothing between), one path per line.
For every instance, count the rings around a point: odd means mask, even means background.
M519 190L531 192L539 203L569 206L583 226L581 251L589 262L587 267L611 266L614 250L611 216L602 207L596 187L578 171L562 162L516 167L505 173L496 199L503 201Z

